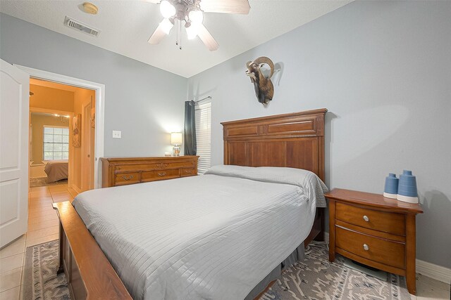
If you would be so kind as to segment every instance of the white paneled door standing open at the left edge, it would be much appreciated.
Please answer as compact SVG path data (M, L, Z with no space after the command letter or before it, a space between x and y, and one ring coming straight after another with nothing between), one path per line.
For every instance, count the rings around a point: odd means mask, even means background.
M27 231L30 76L0 60L0 247Z

